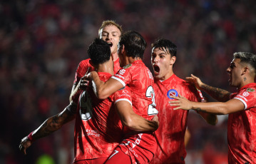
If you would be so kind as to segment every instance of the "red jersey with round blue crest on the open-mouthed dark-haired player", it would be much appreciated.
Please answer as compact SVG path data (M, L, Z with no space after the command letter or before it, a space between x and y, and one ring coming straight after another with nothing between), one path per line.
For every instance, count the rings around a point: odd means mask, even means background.
M158 148L151 163L185 163L187 155L185 151L184 135L187 128L188 111L176 110L170 106L170 96L184 96L189 101L200 101L202 93L190 83L178 76L170 76L165 81L155 79L155 103L158 108L160 121L158 130L155 131L158 140ZM174 100L174 99L173 99Z

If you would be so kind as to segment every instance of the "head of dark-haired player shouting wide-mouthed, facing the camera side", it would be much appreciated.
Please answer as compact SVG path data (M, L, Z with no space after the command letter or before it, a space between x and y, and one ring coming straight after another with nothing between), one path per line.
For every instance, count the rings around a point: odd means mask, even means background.
M173 64L176 61L177 46L168 39L158 39L151 44L151 63L155 78L166 80L173 75Z

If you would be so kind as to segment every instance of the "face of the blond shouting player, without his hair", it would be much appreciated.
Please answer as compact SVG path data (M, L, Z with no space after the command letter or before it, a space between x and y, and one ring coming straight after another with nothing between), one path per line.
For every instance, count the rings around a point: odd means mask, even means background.
M114 25L105 26L100 31L100 39L106 41L111 46L111 53L116 53L121 31Z

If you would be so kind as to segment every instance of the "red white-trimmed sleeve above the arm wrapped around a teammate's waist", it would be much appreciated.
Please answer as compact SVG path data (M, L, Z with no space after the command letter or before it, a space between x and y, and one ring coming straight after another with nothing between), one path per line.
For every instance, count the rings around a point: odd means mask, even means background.
M130 88L128 86L125 86L121 88L121 90L116 91L116 93L113 94L113 102L117 103L118 101L128 101L130 105L132 106L132 100L130 96Z

